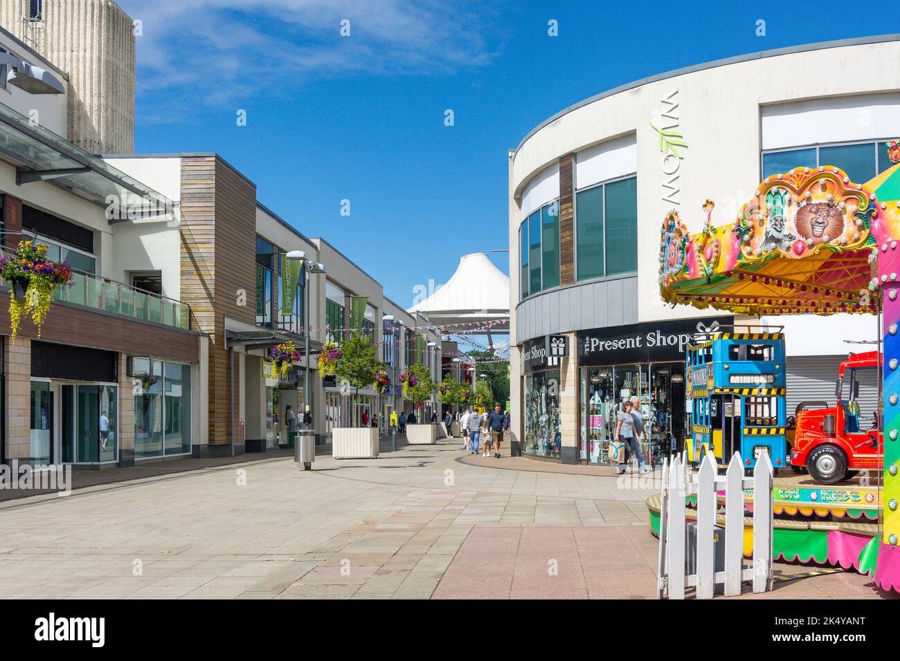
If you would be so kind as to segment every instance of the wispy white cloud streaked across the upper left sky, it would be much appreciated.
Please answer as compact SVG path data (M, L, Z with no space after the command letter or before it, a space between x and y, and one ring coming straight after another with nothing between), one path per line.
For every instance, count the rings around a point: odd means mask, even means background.
M491 61L496 10L437 0L119 0L143 23L138 85L225 103L321 76L453 72ZM339 35L350 21L351 36Z

